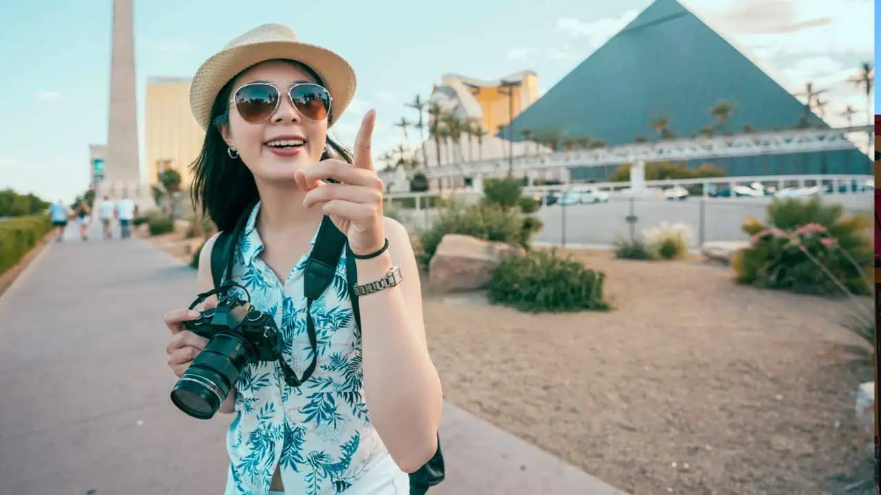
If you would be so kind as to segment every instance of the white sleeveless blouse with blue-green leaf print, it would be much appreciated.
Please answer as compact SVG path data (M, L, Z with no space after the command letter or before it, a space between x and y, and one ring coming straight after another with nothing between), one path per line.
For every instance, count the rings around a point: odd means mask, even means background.
M303 293L308 254L284 282L278 280L259 257L259 211L257 203L238 241L233 279L248 290L258 310L275 318L285 340L284 359L299 377L312 359ZM344 256L333 283L312 303L318 358L309 380L289 387L277 362L242 369L236 416L226 433L226 495L267 494L276 466L285 493L344 493L388 455L364 401L361 338L346 290Z

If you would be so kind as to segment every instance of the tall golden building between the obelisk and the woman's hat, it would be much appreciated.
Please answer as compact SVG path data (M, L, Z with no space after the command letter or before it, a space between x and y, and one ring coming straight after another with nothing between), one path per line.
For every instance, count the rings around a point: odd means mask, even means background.
M189 78L148 78L144 102L144 161L147 181L174 168L181 187L192 181L189 165L202 151L204 131L189 109Z

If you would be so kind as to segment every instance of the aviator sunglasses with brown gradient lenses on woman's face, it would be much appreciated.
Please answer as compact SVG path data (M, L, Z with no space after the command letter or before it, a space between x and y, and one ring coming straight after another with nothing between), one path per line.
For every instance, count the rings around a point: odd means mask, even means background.
M310 121L321 121L327 118L330 110L330 92L322 85L314 83L297 83L287 91L291 104L300 115ZM278 109L281 101L278 87L270 83L249 83L235 91L230 103L235 105L241 118L249 123L260 123L269 120Z

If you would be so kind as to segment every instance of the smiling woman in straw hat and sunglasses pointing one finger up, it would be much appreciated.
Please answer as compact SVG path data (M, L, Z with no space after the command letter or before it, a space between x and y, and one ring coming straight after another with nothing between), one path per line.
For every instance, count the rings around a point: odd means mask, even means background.
M409 236L382 216L383 186L370 155L374 112L361 124L353 159L327 137L354 91L352 67L339 55L278 25L242 34L193 78L190 104L206 131L193 166L194 203L220 231L248 215L233 279L274 316L298 376L312 356L303 268L324 215L356 256L358 280L348 283L372 282L394 266L402 276L359 298L360 334L347 296L328 290L315 301L317 366L300 387L285 384L276 362L242 370L221 406L236 414L226 436L227 494L406 494L407 473L437 447L441 382L427 351ZM216 239L200 255L199 292L213 286ZM177 376L206 344L181 326L196 315L166 316L168 364Z

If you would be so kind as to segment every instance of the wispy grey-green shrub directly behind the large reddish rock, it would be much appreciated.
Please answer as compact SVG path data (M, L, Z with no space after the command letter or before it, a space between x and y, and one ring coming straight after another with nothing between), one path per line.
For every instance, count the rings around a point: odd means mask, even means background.
M447 208L426 230L419 233L422 251L417 255L418 262L427 267L441 239L448 233L461 233L483 240L520 244L522 240L521 215L513 210L505 211L496 204L449 203Z

